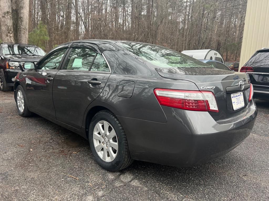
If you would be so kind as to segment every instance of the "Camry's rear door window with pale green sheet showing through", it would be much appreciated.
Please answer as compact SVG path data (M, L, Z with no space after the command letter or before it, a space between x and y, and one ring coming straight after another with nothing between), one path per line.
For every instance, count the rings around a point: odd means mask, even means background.
M72 48L63 70L90 70L95 53L87 48Z

